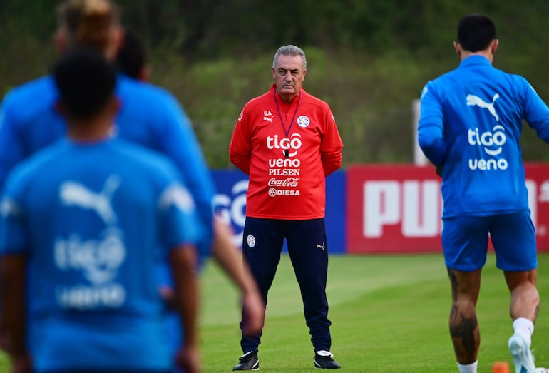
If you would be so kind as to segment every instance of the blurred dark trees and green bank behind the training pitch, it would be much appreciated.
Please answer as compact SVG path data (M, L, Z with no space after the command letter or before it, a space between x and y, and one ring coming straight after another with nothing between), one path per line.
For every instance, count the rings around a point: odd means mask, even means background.
M59 0L0 1L0 89L48 73ZM452 41L464 14L498 28L494 66L518 73L549 100L549 1L529 0L121 0L124 26L149 46L151 81L188 113L212 168L247 100L268 90L279 46L307 53L304 88L332 107L344 166L410 163L411 103L426 81L458 65ZM549 102L549 101L548 101ZM526 160L549 148L525 126Z

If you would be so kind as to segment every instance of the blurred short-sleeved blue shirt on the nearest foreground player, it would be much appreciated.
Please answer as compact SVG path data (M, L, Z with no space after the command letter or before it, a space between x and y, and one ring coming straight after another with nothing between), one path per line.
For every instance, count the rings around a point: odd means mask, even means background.
M193 199L163 155L111 138L60 140L16 166L0 254L29 255L34 368L168 371L165 305L150 274L160 247L202 236Z

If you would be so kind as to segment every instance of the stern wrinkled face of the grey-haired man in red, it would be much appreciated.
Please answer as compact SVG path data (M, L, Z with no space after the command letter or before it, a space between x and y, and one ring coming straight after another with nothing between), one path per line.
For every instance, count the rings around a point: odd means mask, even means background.
M300 56L278 57L275 67L272 68L272 78L277 84L277 93L282 101L289 102L299 94L307 70L303 69Z

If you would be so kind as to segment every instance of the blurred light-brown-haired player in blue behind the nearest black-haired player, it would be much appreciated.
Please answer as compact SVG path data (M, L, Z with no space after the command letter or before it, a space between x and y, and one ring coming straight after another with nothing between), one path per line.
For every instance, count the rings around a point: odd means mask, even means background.
M101 51L114 63L124 37L116 4L108 0L68 0L58 6L57 13L55 41L61 54L86 46ZM230 243L229 230L213 219L212 178L183 108L163 88L123 73L117 76L116 96L121 106L113 135L168 155L175 162L197 205L204 232L198 242L200 257L203 260L210 255L211 249L212 256L241 292L250 316L250 333L257 332L262 327L264 305L250 271L242 267L240 252ZM44 76L14 88L2 101L0 187L16 163L64 136L66 124L54 107L56 97L53 78ZM170 273L165 266L158 269L159 285L169 298Z

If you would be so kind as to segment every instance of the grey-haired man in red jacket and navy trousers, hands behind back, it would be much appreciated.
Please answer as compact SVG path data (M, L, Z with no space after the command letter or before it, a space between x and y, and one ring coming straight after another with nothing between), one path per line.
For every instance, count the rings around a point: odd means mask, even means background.
M305 92L305 53L275 53L270 91L248 101L229 146L230 160L250 176L242 252L267 303L284 239L301 290L314 366L337 369L330 352L326 280L325 178L342 164L342 139L327 103ZM242 315L240 328L245 327ZM261 333L242 336L233 370L257 370Z

